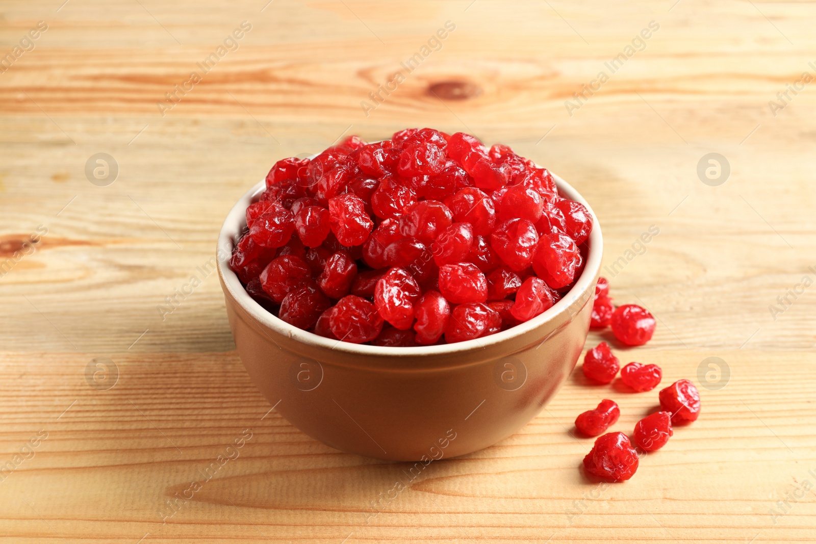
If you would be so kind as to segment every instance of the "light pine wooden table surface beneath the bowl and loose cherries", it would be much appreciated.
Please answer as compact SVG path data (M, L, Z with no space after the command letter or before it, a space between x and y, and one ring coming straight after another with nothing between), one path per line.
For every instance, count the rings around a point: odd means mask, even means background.
M814 542L813 2L63 2L0 5L0 542ZM572 421L612 397L631 431L656 391L580 369L401 493L406 465L310 439L247 377L201 268L227 210L279 158L406 126L592 203L614 299L659 319L621 359L703 397L632 480L588 480Z

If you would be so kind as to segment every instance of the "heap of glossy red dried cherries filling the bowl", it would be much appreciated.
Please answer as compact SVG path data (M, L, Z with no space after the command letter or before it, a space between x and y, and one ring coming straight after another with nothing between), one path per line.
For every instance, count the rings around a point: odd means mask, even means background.
M592 232L548 170L461 132L349 136L265 184L229 266L269 312L343 342L455 343L534 319L574 285Z

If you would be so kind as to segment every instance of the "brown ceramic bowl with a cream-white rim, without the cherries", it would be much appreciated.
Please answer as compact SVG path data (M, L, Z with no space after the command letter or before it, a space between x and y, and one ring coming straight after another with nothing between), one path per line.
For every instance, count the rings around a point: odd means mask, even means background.
M565 197L592 209L553 176ZM229 269L255 185L221 228L218 262L229 325L255 385L277 412L333 448L370 458L455 457L512 435L574 369L587 338L603 241L594 214L583 274L547 312L467 342L378 347L323 338L267 312ZM418 467L421 470L421 467Z

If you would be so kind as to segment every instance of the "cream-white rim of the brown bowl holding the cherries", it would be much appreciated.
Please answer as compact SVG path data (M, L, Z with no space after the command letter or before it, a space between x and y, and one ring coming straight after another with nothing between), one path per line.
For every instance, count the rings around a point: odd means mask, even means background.
M550 172L552 174L552 172ZM295 325L290 325L272 313L268 312L259 303L255 302L252 297L246 293L241 281L235 272L229 268L229 258L233 252L233 246L237 241L237 236L246 227L246 207L250 205L253 197L263 192L265 187L265 180L255 184L249 191L238 199L229 211L218 237L218 245L216 250L216 259L223 278L224 285L233 299L241 305L243 310L254 317L259 323L273 329L279 334L297 340L304 344L313 345L316 347L326 347L327 349L346 352L350 354L365 355L365 356L397 356L397 357L415 357L415 356L438 356L450 355L457 352L468 352L471 350L481 350L487 346L503 343L510 338L515 338L530 332L530 330L543 325L548 321L552 321L561 312L565 312L573 303L575 303L580 293L588 290L590 283L595 281L595 276L601 268L601 257L603 255L603 237L601 236L601 226L598 223L598 218L589 203L583 199L578 191L576 191L570 184L566 183L561 177L552 174L552 179L557 184L558 191L565 197L571 200L578 201L583 206L587 207L590 215L592 215L592 232L589 235L589 251L587 255L587 263L583 268L583 273L575 282L572 289L570 289L561 299L550 307L546 312L535 316L530 321L525 321L521 325L515 325L507 330L500 331L496 334L483 336L481 338L474 338L472 340L465 340L464 342L451 344L434 344L431 346L417 346L417 347L390 347L390 346L372 346L369 344L356 344L350 342L340 342L331 338L325 338L319 334L310 333L307 330L299 329ZM594 294L594 293L593 293ZM582 304L583 307L583 304ZM570 316L572 319L573 316Z

